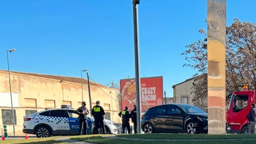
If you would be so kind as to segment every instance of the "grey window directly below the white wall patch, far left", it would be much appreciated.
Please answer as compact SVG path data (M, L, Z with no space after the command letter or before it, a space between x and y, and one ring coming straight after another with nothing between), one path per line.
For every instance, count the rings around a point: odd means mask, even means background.
M14 124L17 125L16 110L14 109L13 112L14 112ZM2 120L3 120L3 125L13 125L11 109L2 109Z

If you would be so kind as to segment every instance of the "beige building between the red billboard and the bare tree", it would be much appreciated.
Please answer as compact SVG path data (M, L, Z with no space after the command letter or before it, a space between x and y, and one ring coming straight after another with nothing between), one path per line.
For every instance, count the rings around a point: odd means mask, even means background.
M192 104L194 94L192 93L192 86L195 78L189 78L184 82L173 85L173 102L182 104Z

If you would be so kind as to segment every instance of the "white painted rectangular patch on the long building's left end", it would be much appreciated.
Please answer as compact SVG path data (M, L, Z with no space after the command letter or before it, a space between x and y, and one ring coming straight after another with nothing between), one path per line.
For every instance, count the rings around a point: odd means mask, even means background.
M0 106L1 107L19 107L18 94L12 93L12 103L10 100L10 93L0 92Z

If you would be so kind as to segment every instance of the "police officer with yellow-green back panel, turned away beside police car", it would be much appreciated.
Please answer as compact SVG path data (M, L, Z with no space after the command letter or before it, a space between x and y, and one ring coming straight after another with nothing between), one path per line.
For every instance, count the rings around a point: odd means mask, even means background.
M103 134L106 134L106 128L104 124L104 109L100 106L100 102L96 101L96 106L92 108L92 115L94 117L94 123L97 130L97 134L100 132L99 124L101 125L101 128L103 130Z

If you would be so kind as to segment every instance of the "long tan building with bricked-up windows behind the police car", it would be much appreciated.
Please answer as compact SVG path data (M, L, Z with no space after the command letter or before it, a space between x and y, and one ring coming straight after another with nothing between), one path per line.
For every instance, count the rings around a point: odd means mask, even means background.
M24 135L23 116L43 111L45 108L60 108L61 104L73 108L81 106L81 78L42 75L36 73L10 72L12 103L16 135ZM84 101L89 105L88 81L83 79ZM119 113L118 89L108 88L99 83L90 82L92 106L101 101L105 118L116 123ZM0 130L7 125L8 135L13 135L10 85L8 71L0 70Z

